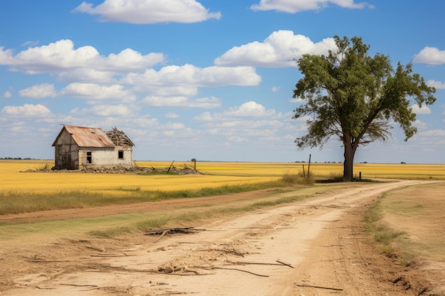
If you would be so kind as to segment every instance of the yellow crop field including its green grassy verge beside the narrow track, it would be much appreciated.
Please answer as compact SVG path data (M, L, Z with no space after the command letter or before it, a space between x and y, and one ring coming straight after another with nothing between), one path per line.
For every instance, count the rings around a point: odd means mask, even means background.
M171 162L136 162L139 167L168 168ZM193 163L175 162L177 168ZM198 162L203 174L107 174L41 172L53 160L0 160L0 214L44 209L95 207L156 199L230 194L285 186L284 176L307 175L308 163ZM28 172L27 172L28 171ZM31 171L31 172L29 172ZM315 180L339 177L341 163L312 163ZM404 178L445 180L444 165L355 164L363 179ZM302 186L302 185L300 185Z

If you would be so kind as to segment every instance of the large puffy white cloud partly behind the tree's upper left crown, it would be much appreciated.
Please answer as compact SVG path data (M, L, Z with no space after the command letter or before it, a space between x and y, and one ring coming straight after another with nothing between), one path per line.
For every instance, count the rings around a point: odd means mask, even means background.
M305 53L327 54L334 50L333 38L318 43L293 31L280 30L270 34L262 42L254 41L227 50L215 59L215 65L247 65L253 67L297 67L294 59Z

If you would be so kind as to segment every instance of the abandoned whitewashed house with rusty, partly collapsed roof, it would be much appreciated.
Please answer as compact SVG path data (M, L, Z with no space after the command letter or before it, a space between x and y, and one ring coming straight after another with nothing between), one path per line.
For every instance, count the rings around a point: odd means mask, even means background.
M55 170L132 166L133 142L123 131L64 125L53 143Z

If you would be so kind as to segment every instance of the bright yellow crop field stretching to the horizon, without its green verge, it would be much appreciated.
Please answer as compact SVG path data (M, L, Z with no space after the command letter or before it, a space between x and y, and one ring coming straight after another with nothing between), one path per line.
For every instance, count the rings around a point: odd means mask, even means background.
M170 162L138 161L141 167L168 168ZM176 162L193 167L193 163ZM178 191L203 187L243 185L278 180L284 174L307 173L307 163L225 163L198 162L197 170L204 175L125 175L81 172L25 172L53 166L53 160L0 160L0 192L54 193L69 191L107 192L122 194L125 190ZM311 163L316 178L342 175L341 163ZM445 165L422 164L355 164L354 173L363 178L404 178L445 180Z

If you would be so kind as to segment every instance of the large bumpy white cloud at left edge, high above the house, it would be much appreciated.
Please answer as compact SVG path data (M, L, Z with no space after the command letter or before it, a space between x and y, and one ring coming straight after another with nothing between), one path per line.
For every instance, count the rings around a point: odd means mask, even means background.
M88 70L90 73L143 71L163 60L164 56L161 53L141 55L129 48L105 57L90 45L74 48L72 40L58 40L48 45L28 48L16 55L12 50L0 48L0 65L8 65L12 71L30 75L40 73L66 75L66 72L73 70L78 71L80 75ZM90 75L89 78L94 76Z

